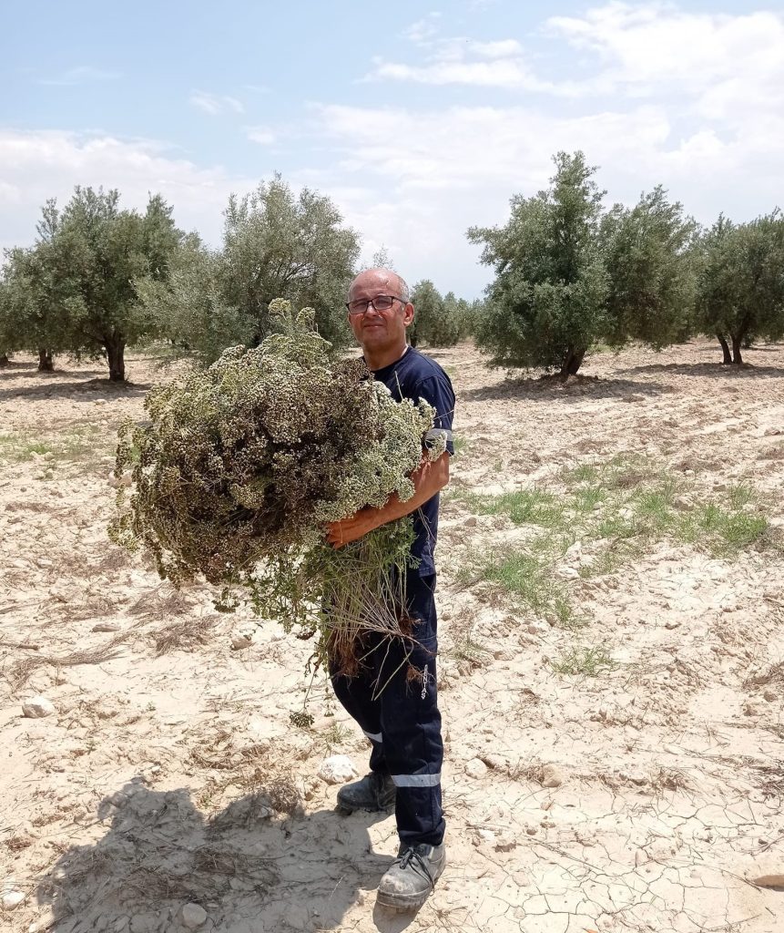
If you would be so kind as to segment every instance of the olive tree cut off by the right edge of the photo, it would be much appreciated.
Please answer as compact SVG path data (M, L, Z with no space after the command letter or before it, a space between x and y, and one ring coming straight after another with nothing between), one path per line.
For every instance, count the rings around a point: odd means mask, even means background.
M742 363L744 341L784 335L784 216L748 224L724 216L700 243L695 325L722 343L723 362ZM732 356L730 356L730 345Z

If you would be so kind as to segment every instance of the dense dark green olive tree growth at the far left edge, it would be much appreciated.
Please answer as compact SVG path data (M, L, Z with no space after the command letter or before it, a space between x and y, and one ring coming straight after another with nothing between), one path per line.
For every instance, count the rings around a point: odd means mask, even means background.
M125 378L126 344L154 329L131 280L164 277L180 233L158 195L144 215L118 205L118 192L102 188L77 187L62 212L47 202L34 246L7 252L0 343L105 355L110 378Z

